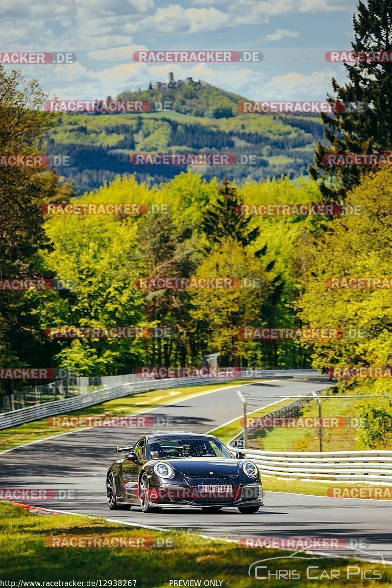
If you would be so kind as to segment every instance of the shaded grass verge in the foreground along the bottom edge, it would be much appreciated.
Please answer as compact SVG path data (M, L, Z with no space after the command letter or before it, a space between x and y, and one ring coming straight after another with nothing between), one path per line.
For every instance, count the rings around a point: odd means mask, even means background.
M282 580L272 579L268 583L272 588L283 585L314 586L313 580L306 579L308 566L319 566L318 575L324 569L329 572L339 570L343 580L338 583L339 586L376 586L373 582L363 584L360 574L347 581L347 565L378 570L382 574L377 581L378 588L386 588L392 582L391 568L384 569L382 564L337 559L333 553L323 560L309 555L309 559L290 562L287 551L244 549L238 543L202 539L189 532L170 530L163 533L109 523L102 518L40 516L9 503L0 504L0 530L0 579L16 583L19 580L83 580L86 586L88 580L101 580L101 586L105 586L106 580L106 586L115 586L115 580L136 580L138 588L163 588L169 586L170 580L201 580L201 586L205 580L221 580L222 586L248 588L260 584L254 576L248 576L250 564L264 557L276 556L284 559L277 560L278 563L267 562L271 570L295 568L301 580L300 583L298 580L284 580L282 584ZM53 536L61 537L61 543L65 544L75 536L129 537L133 542L137 538L140 542L142 538L151 537L161 543L166 541L166 545L170 542L170 547L50 547L47 541ZM317 570L312 569L311 572L315 575ZM317 587L330 588L330 580L324 575L317 582Z

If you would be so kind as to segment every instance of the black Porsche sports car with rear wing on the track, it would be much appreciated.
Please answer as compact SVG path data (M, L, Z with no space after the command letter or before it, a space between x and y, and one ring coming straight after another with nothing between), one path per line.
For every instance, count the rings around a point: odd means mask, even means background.
M212 435L146 435L112 463L106 477L109 509L140 505L143 512L197 506L206 512L238 507L255 513L263 505L259 470L242 452Z

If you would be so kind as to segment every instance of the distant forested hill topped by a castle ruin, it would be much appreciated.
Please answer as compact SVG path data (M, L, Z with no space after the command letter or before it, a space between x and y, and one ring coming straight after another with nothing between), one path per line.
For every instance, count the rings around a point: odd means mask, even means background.
M323 139L321 119L284 114L243 114L245 98L215 86L190 83L176 88L122 92L118 99L170 102L170 111L116 115L62 114L51 130L48 155L70 155L59 173L79 192L93 190L116 175L138 181L167 181L186 168L131 165L133 153L234 153L256 156L256 165L192 166L206 176L259 179L307 173L313 149Z

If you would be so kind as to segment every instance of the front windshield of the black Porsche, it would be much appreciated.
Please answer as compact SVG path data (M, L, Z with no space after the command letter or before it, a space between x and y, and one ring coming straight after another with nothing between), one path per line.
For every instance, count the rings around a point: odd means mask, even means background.
M217 439L195 437L164 437L151 439L147 444L146 459L157 457L228 457L232 453Z

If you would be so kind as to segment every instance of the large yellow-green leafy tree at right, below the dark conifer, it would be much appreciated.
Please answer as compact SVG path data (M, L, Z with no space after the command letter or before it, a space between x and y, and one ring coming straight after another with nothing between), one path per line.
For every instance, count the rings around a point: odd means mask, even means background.
M389 366L392 362L391 290L327 287L331 278L391 276L392 171L384 168L370 173L347 196L347 203L361 206L362 212L334 219L314 243L311 262L304 273L304 293L297 306L301 318L310 326L360 328L367 331L367 336L317 340L312 355L317 369L334 365ZM380 391L390 388L385 379L371 385Z

